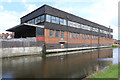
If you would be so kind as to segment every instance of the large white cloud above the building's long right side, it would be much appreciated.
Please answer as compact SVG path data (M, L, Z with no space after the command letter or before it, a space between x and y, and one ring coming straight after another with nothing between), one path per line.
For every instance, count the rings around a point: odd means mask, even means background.
M61 8L67 12L73 13L82 18L88 19L92 22L104 25L106 27L111 26L113 29L113 37L118 38L118 1L119 0L87 0L90 3L87 6L78 5L76 2L75 6L68 7L62 6L65 3L57 3L55 6ZM70 3L70 2L69 2ZM80 3L81 4L81 3ZM85 3L83 3L85 4Z

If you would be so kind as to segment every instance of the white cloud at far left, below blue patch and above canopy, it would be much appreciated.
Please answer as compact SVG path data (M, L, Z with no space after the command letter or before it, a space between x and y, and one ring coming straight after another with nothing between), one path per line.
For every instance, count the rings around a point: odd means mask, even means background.
M2 11L0 12L0 33L19 24L19 14L15 12Z

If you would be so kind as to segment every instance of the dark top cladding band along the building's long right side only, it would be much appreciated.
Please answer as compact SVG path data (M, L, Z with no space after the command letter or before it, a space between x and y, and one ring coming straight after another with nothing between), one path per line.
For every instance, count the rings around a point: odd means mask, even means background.
M91 25L95 28L99 27L100 29L109 31L109 28L107 28L105 26L99 25L97 23L94 23L94 22L91 22L89 20L80 18L78 16L75 16L73 14L70 14L70 13L67 13L67 12L64 12L64 11L61 11L59 9L53 8L53 7L48 6L48 5L45 6L45 13L53 15L53 16L61 17L61 18L64 18L64 19L68 19L68 20L71 20L71 21L74 21L74 22ZM110 31L113 32L112 29L110 29Z

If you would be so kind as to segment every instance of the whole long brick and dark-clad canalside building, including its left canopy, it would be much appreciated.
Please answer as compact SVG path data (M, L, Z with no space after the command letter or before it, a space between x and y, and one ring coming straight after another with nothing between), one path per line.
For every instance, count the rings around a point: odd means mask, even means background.
M7 31L15 32L15 38L36 37L48 49L113 44L113 29L48 5L23 16L20 25Z

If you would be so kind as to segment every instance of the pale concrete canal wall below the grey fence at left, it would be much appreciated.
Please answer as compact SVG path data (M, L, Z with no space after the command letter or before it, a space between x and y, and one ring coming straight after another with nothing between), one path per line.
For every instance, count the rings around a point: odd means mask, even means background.
M0 58L41 54L42 47L0 48Z

